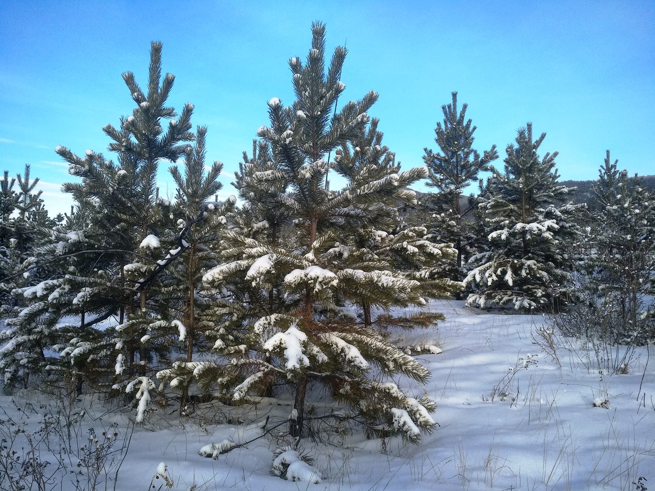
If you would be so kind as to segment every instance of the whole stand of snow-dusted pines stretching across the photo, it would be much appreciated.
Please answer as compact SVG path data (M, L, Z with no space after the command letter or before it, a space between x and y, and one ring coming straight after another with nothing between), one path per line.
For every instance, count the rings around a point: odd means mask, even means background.
M77 179L64 185L70 214L48 217L29 165L0 179L9 390L37 376L78 395L133 393L137 422L166 386L181 393L181 415L193 391L216 389L233 405L278 397L293 399L297 439L312 418L347 418L367 435L418 443L436 405L393 380L424 383L430 373L411 354L437 349L398 346L390 328L443 319L421 309L426 299L465 284L470 306L552 310L567 335L655 336L655 202L609 151L586 212L559 183L557 153L538 155L545 133L520 128L499 172L495 145L473 148L476 127L453 92L439 150L403 171L369 117L377 93L339 105L346 50L327 60L317 22L306 60L289 61L295 99L269 101L269 123L243 154L237 208L234 196L218 200L223 164L206 165L208 130L192 132L193 105L179 115L167 105L174 76L162 75L161 53L152 43L144 88L122 74L136 107L103 128L115 160L57 147ZM176 185L170 201L159 196L160 164ZM410 187L421 179L436 192L419 205ZM319 390L335 404L307 407Z

